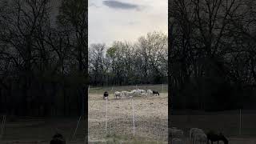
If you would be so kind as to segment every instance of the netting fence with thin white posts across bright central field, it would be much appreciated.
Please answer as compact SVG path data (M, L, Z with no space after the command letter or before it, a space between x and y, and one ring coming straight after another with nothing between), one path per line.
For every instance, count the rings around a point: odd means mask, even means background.
M159 97L151 98L157 99ZM102 100L100 94L90 95L90 141L104 141L108 137L122 137L124 139L135 137L167 142L167 113L158 114L158 110L154 108L156 105L153 105L153 101L151 100L150 98L147 100L146 98L125 98L118 100L111 99L108 101ZM145 101L147 103L149 102L149 104L145 103ZM146 109L142 110L145 108L144 105ZM161 104L158 104L158 106L161 106ZM162 108L163 110L167 110L167 106L163 106Z

